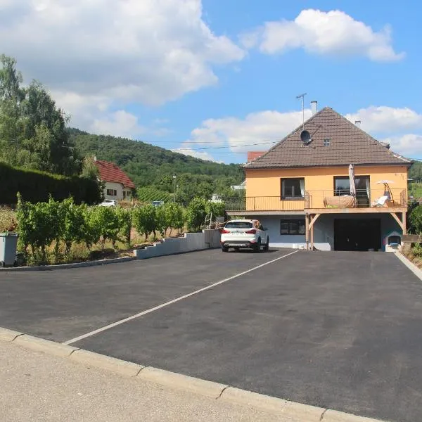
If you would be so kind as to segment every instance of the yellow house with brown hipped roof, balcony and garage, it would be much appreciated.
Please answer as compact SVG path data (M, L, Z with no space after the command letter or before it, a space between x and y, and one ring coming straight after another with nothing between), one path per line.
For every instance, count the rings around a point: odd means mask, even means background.
M324 108L245 165L245 204L228 214L260 219L273 246L385 250L406 233L410 166Z

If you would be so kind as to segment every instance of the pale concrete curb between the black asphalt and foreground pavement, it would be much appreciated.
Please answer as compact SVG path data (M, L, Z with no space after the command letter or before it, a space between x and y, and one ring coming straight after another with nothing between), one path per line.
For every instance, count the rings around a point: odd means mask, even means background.
M290 402L285 399L270 397L257 392L241 390L213 381L182 375L181 373L153 368L152 366L145 367L134 364L133 362L127 362L103 354L89 352L88 350L78 349L77 347L33 337L32 335L26 335L18 331L11 331L7 328L0 327L0 341L15 343L30 350L70 359L72 362L98 369L105 369L106 371L122 376L136 378L139 381L156 383L224 402L253 407L270 414L285 416L286 418L290 418L292 422L381 422L377 419L364 418L331 409L323 409L322 407Z

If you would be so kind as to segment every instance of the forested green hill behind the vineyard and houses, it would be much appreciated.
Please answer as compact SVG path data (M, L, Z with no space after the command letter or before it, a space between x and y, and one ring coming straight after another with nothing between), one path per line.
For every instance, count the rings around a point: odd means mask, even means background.
M80 155L96 155L100 160L115 162L138 188L155 186L172 193L172 175L176 174L178 197L184 201L197 194L203 197L210 197L212 193L227 195L229 186L243 181L240 165L204 161L149 143L92 135L74 128L68 129L68 133Z

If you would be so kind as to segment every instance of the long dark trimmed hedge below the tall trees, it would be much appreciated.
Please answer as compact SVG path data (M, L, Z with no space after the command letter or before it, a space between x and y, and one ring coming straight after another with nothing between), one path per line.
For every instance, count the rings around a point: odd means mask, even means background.
M77 204L91 205L100 203L103 195L100 184L93 179L64 177L0 163L0 204L15 204L18 192L31 203L48 202L49 196L55 200L72 196Z

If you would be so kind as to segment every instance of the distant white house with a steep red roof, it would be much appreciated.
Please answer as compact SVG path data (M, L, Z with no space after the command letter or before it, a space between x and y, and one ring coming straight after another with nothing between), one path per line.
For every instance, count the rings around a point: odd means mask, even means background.
M114 162L97 160L95 165L101 181L104 183L104 198L123 200L132 197L135 185L124 171Z

